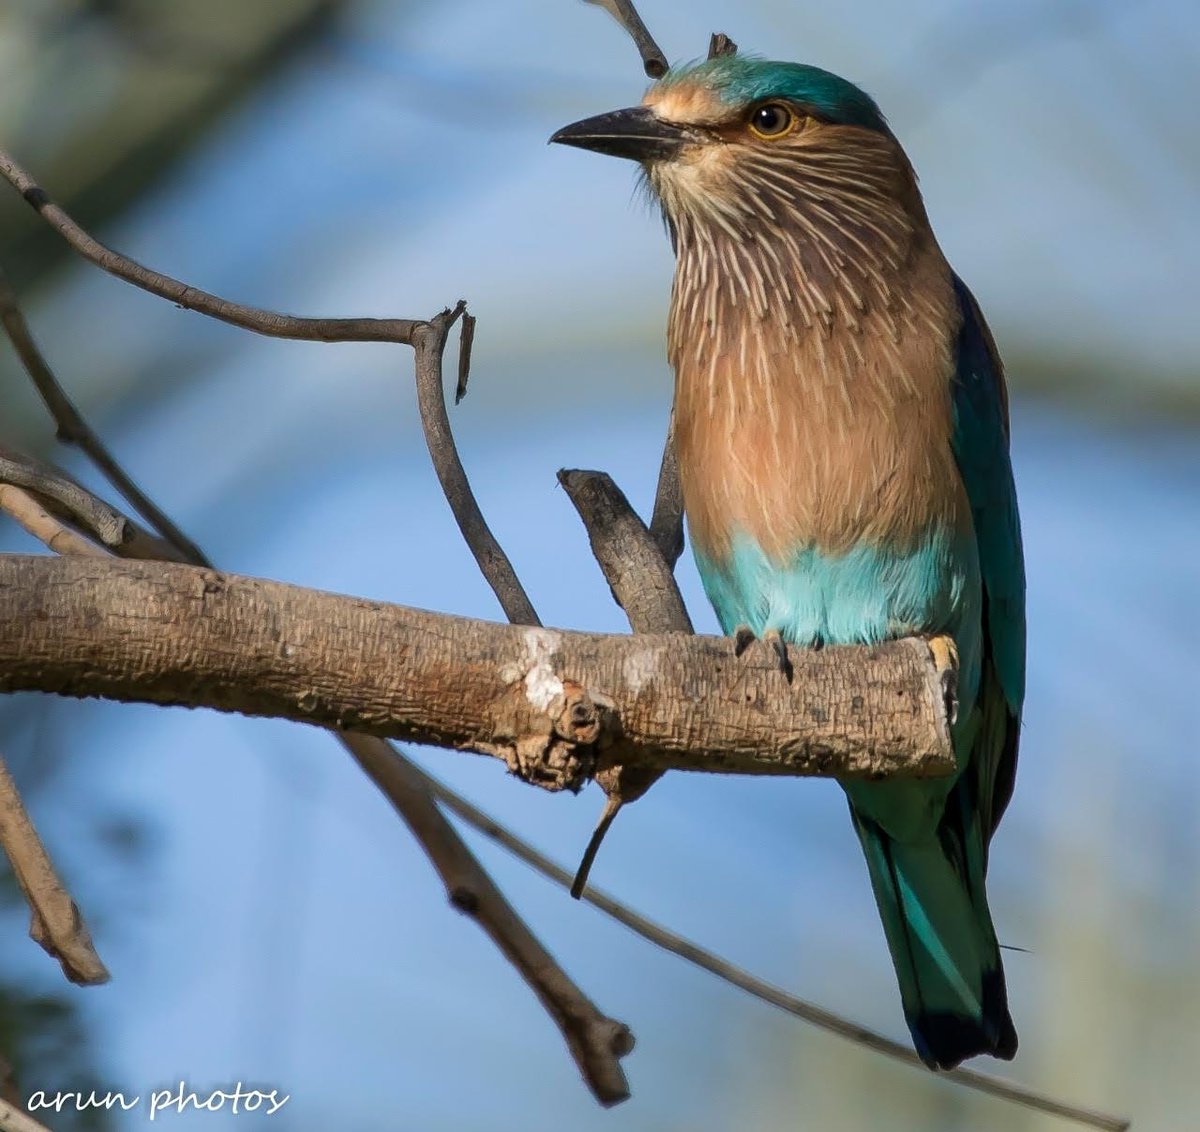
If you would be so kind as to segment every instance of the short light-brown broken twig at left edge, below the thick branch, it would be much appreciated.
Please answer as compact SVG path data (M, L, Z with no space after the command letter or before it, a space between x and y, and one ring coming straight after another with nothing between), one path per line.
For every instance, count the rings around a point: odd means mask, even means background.
M92 987L108 982L108 969L91 942L91 934L42 839L34 828L17 784L0 757L0 845L12 864L20 891L32 911L29 934L62 965L73 983Z

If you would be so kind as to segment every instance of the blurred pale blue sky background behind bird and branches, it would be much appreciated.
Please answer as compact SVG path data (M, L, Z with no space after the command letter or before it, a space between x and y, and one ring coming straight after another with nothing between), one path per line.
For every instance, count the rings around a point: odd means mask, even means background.
M1181 2L931 0L642 11L674 58L720 29L862 82L922 174L1016 389L1030 696L990 890L1002 938L1028 953L1007 959L1021 1053L998 1072L1140 1128L1181 1127L1200 1107L1200 418L1180 408L1198 403L1198 16ZM362 4L103 238L301 313L419 316L468 298L474 377L454 424L484 511L547 623L619 631L554 472L605 468L648 505L670 396L670 251L628 166L545 139L642 86L619 30L582 4ZM84 269L30 313L94 423L222 565L498 616L428 467L407 349L256 340ZM14 427L30 429L32 396L13 371L4 381ZM680 576L697 628L713 630L686 558ZM604 1112L326 736L96 702L36 713L13 749L73 756L35 817L84 903L94 894L85 911L114 980L70 993L101 1037L106 1084L145 1095L180 1077L241 1079L293 1096L271 1120L173 1122L1062 1126L806 1031L480 844L570 974L637 1035L634 1100ZM574 864L599 791L550 797L488 760L420 759ZM151 851L94 854L72 831L97 811L144 821ZM833 784L673 775L623 814L594 880L904 1036ZM31 945L5 962L55 986ZM120 1127L144 1124L134 1112Z

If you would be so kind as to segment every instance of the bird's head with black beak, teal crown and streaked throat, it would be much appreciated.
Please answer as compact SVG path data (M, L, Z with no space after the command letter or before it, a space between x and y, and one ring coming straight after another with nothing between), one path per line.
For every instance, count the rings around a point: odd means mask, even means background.
M802 64L718 55L674 67L641 106L564 126L551 140L640 162L677 238L715 224L758 239L763 223L794 227L788 218L845 228L881 209L920 210L874 100Z

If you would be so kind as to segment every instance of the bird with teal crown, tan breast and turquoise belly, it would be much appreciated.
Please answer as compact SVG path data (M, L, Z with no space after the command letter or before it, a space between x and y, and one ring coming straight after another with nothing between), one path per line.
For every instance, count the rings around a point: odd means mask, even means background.
M740 654L922 636L955 768L840 779L926 1066L1012 1059L985 875L1013 792L1025 565L1003 369L878 106L736 49L552 142L638 162L676 254L688 532Z

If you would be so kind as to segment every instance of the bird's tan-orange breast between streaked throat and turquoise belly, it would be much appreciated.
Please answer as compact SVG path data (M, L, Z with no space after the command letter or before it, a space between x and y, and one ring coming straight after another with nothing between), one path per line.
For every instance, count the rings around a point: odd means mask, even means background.
M958 527L960 317L932 236L894 270L797 240L692 236L680 227L668 353L697 549L721 561L749 538L781 562Z

